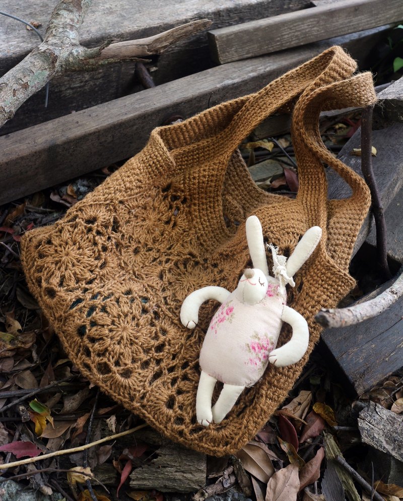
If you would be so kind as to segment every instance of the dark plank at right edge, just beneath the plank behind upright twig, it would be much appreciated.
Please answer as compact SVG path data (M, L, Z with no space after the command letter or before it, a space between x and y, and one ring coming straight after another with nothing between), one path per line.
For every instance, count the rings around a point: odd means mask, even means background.
M385 211L386 248L389 258L403 264L403 189L397 193ZM366 239L376 246L376 231L373 227Z

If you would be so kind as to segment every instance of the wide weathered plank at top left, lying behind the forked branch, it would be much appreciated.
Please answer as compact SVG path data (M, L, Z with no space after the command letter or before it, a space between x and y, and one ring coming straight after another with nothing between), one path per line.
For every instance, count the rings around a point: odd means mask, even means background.
M44 35L57 0L15 2L3 0L1 10L42 23ZM309 5L308 0L192 0L172 8L169 0L114 0L113 4L93 2L80 30L83 45L94 47L108 38L128 40L151 36L186 23L209 18L220 28L258 19L261 12L277 15ZM25 26L0 16L0 75L15 66L33 47L38 38ZM206 32L201 32L169 47L149 65L158 84L211 68ZM0 135L30 127L36 123L111 101L142 90L133 79L133 62L126 61L96 72L75 72L54 79L50 84L49 105L44 107L44 91L25 103L6 123Z

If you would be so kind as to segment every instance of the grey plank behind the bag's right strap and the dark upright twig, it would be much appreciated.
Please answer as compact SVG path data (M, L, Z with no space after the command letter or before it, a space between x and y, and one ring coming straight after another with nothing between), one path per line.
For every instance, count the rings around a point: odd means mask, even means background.
M372 157L372 165L378 183L378 189L383 207L386 209L403 186L403 123L396 122L393 125L372 132L372 144L377 149L377 156ZM352 155L353 148L361 148L361 130L346 143L339 154L339 158L351 167L355 172L361 173L361 157ZM346 182L334 171L327 173L329 183L329 198L342 199L351 193ZM354 254L366 240L373 220L368 216L364 221L358 235Z

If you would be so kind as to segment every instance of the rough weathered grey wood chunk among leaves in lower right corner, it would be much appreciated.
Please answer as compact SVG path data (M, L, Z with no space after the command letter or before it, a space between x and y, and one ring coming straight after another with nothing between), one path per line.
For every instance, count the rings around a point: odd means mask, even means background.
M364 444L403 461L403 416L368 402L358 417L358 429Z

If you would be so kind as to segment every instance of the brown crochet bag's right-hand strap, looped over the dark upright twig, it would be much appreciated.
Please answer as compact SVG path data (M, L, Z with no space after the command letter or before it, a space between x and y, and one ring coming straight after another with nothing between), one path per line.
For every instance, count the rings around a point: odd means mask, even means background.
M371 197L363 178L341 160L334 158L323 144L319 132L319 114L322 110L368 106L375 101L372 75L362 73L324 87L306 89L294 109L292 138L299 166L297 200L305 208L309 225L327 227L320 246L326 246L332 258L338 257L341 266L348 265ZM328 201L323 163L349 184L352 191L350 197ZM341 244L343 256L339 256Z

